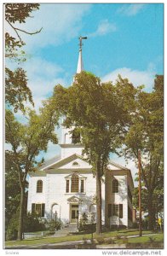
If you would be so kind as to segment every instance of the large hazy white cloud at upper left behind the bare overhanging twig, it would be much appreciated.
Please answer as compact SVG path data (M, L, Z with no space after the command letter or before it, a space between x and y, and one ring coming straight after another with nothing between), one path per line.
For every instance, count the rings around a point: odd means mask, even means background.
M33 36L21 33L26 42L26 49L34 50L48 45L59 45L72 38L78 37L82 27L83 15L89 12L90 4L41 4L40 9L32 12L33 19L27 18L25 24L14 24L27 32L36 32L43 27L40 33ZM11 28L6 25L11 32Z

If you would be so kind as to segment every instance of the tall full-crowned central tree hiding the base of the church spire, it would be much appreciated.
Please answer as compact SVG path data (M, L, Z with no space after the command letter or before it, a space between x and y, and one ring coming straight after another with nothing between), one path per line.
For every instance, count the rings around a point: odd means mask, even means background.
M68 89L55 86L50 104L66 116L64 125L80 131L83 154L93 166L96 177L96 232L101 233L101 181L110 152L117 152L135 107L136 89L127 79L118 77L115 85L101 83L91 73L76 75Z

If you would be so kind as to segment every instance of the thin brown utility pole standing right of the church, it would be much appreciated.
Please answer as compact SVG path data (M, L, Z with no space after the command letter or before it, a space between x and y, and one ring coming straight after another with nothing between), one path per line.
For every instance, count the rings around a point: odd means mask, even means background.
M138 168L139 168L139 236L142 236L141 225L141 150L138 150Z

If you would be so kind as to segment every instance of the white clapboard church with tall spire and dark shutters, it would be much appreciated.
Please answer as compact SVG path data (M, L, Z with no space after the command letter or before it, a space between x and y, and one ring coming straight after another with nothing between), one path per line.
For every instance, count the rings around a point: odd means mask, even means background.
M77 73L83 70L82 39ZM86 213L89 222L95 223L95 176L73 128L61 125L60 156L46 161L37 172L29 172L27 212L46 220L56 216L64 224L76 223ZM132 226L133 188L130 170L110 161L101 183L102 224Z

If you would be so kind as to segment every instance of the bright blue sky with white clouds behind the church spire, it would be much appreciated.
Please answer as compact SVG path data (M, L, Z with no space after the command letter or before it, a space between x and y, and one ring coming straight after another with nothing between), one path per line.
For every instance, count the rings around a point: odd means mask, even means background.
M163 3L41 3L33 17L18 26L29 32L43 27L36 35L21 35L26 42L24 68L36 108L51 95L55 84L72 83L80 35L88 37L83 41L84 69L102 81L114 82L120 73L151 91L155 74L164 73ZM7 25L6 30L10 31ZM59 152L49 143L45 159ZM135 170L134 164L129 167Z

